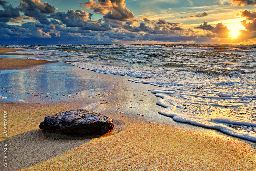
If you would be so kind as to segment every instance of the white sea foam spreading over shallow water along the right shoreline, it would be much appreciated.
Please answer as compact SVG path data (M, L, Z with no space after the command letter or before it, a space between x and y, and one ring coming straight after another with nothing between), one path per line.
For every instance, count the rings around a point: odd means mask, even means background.
M211 87L212 85L218 87ZM192 87L188 89L186 86L178 89L163 87L150 91L162 98L157 104L165 109L159 113L171 116L173 120L219 129L233 136L256 141L256 95L233 90L240 86L225 86L219 83L198 86L202 90L196 90L196 93ZM210 89L213 91L209 91ZM215 92L219 89L227 92Z

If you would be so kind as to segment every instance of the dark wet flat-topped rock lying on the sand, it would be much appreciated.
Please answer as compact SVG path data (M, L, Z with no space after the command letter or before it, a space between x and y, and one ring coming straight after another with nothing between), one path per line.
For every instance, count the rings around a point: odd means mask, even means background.
M113 120L100 113L76 109L45 117L39 128L43 132L68 136L105 134L114 127Z

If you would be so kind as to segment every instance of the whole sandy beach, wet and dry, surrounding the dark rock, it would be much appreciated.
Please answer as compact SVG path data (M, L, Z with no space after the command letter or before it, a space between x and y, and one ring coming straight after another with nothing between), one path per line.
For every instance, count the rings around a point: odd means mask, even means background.
M62 62L0 60L5 62L0 63L0 74L8 76L2 76L6 83L0 89L6 97L0 103L0 119L8 111L9 122L9 165L2 165L4 170L256 168L255 142L159 114L163 107L156 103L161 98L148 91L157 86ZM72 109L109 116L115 128L103 136L82 139L52 139L38 128L44 117Z

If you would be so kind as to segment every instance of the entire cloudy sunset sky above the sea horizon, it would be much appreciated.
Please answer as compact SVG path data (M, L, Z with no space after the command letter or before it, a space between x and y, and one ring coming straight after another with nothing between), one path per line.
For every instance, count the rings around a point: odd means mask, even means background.
M256 44L256 0L0 0L0 44Z

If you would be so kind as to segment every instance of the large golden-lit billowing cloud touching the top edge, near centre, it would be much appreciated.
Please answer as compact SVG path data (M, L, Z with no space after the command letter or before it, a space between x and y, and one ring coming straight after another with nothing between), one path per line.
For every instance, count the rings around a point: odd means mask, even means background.
M124 0L90 0L88 2L79 2L94 13L103 14L103 18L127 21L134 18L134 14L125 8Z

